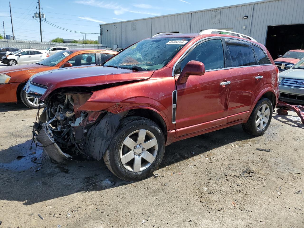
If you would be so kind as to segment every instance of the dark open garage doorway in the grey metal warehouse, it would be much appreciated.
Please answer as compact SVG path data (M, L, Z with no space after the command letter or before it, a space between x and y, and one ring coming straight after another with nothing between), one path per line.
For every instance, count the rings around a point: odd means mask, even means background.
M304 24L268 26L266 48L275 60L292 49L304 49Z

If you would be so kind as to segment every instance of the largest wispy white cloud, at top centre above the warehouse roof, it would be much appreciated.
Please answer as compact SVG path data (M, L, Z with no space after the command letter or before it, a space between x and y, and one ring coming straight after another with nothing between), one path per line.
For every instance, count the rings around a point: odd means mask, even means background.
M115 15L124 14L125 12L147 14L147 15L154 15L154 16L160 15L159 13L130 10L129 8L125 8L121 5L118 5L115 2L114 3L113 2L105 3L104 1L98 1L98 0L79 0L79 1L75 1L75 3L83 4L83 5L90 5L90 6L94 6L94 7L97 6L97 7L105 8L105 9L112 9L112 10L114 10Z

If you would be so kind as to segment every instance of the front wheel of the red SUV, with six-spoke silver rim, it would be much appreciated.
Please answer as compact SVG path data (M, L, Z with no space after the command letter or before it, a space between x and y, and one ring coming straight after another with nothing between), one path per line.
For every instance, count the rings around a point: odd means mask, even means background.
M118 178L139 181L158 168L164 152L164 135L156 123L143 117L127 117L122 120L103 160Z

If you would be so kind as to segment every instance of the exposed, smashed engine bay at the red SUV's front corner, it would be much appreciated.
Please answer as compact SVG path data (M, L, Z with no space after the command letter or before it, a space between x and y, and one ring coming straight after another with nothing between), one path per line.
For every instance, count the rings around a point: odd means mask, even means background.
M47 98L46 108L33 126L33 139L36 146L41 146L37 142L42 144L51 161L102 158L123 114L80 111L78 108L90 97L90 94L58 92Z

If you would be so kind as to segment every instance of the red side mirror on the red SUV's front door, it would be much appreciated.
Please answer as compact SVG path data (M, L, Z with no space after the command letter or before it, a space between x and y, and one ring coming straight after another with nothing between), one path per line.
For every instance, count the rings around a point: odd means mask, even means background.
M181 74L178 77L178 82L184 84L188 80L189 75L203 74L205 74L205 65L202 62L191 60L185 65L184 69L181 71Z

